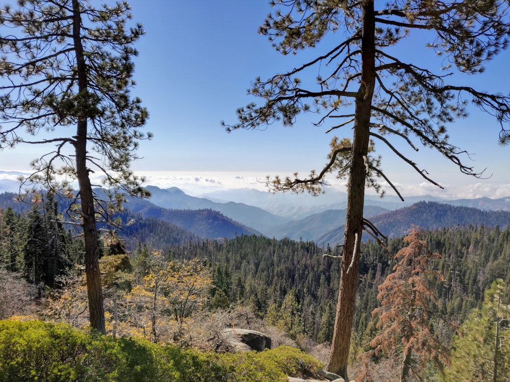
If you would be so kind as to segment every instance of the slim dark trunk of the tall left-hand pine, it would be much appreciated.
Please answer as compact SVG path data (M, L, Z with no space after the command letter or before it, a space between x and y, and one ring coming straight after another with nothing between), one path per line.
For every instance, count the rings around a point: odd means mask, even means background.
M73 42L76 54L78 92L87 92L87 70L80 37L81 15L79 0L72 0L73 8ZM85 274L87 277L87 295L89 302L90 326L97 332L105 334L105 311L103 291L99 271L99 248L97 244L97 227L94 209L94 197L87 169L87 115L79 115L77 134L74 137L76 153L76 176L80 189L82 205L83 237L85 242Z

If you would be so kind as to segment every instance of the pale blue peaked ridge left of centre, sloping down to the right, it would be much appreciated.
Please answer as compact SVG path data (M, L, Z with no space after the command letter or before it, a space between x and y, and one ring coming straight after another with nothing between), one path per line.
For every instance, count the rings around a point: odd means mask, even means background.
M177 187L162 189L156 186L148 186L147 189L152 194L149 200L158 206L172 209L212 209L263 234L269 234L269 229L271 227L292 220L289 217L277 216L262 208L244 203L235 203L232 201L218 203L205 198L189 196Z

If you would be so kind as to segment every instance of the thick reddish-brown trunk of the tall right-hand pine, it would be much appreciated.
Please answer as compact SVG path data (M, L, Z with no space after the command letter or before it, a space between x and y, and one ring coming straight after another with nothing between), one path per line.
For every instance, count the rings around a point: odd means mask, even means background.
M366 157L372 95L375 85L375 15L374 3L363 2L362 77L355 106L351 165L348 181L347 214L342 259L342 275L338 295L333 343L327 369L348 382L347 364L354 317L354 301L358 287L360 245L363 232ZM354 253L354 250L356 253Z

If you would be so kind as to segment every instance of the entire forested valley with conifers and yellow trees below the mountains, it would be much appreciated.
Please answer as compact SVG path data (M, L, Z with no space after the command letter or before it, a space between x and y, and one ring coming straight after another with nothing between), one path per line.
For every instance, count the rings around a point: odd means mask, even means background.
M51 197L22 205L0 210L0 318L86 328L80 232L60 223L61 207ZM167 235L179 233L171 245L138 240L131 251L125 249L125 232L102 231L108 334L225 352L223 328L264 330L274 347L298 347L325 362L341 248L257 235L201 239L169 227ZM390 239L386 247L363 243L351 345L354 378L393 380L408 349L412 372L425 380L485 378L496 362L499 375L510 377L510 228L409 229L409 236ZM421 305L416 294L423 297ZM414 321L407 322L410 316ZM377 340L391 329L387 323L397 325L386 336L393 344ZM406 324L414 333L409 338Z

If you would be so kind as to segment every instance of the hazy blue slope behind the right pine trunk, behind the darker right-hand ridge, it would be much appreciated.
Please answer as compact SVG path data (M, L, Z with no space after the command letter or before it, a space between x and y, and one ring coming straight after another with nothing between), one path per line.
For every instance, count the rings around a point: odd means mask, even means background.
M364 215L366 217L378 215L388 211L382 207L365 206ZM291 222L283 226L273 227L272 237L281 239L288 237L292 240L316 240L338 226L345 223L345 209L330 209L305 217L296 222Z

